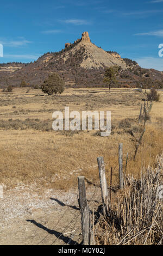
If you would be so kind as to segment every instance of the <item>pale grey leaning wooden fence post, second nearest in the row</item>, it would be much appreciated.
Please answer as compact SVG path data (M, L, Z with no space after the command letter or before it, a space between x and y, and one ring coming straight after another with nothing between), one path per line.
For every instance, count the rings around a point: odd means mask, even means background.
M105 163L102 156L97 157L97 163L98 163L99 180L100 180L102 201L103 201L103 213L107 215L109 211L109 195L108 195L108 185L107 185L106 176L105 176Z

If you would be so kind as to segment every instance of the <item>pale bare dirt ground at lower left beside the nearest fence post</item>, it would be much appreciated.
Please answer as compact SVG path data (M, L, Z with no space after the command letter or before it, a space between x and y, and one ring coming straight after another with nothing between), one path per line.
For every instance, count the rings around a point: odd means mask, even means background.
M82 242L78 191L19 187L0 199L0 245L78 245ZM86 190L90 210L101 204L97 187Z

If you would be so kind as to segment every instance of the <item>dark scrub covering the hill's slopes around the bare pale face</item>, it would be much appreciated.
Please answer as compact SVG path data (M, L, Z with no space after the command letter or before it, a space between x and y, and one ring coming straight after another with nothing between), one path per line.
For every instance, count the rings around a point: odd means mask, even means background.
M0 87L4 88L9 85L20 87L21 82L24 81L27 87L39 88L54 72L65 81L66 87L106 87L104 72L108 67L103 65L99 68L85 69L80 66L87 58L90 59L90 62L96 63L91 59L91 54L86 51L85 45L76 47L81 40L78 39L73 44L68 43L59 52L45 53L34 62L0 64ZM116 57L114 58L116 59ZM127 69L121 69L118 72L117 87L163 88L162 72L143 69L134 60L128 58L124 58L122 61L126 63Z

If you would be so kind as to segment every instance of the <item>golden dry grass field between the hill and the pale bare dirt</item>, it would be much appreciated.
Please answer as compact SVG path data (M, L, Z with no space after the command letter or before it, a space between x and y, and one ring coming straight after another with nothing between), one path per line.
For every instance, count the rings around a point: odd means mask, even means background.
M44 95L39 89L14 88L0 92L0 184L6 189L35 184L40 188L68 190L77 187L77 176L99 184L97 156L103 156L106 176L113 167L113 184L118 184L118 143L123 157L129 153L127 173L135 178L141 168L154 166L163 144L163 92L154 102L146 123L136 161L135 145L143 129L138 124L146 93L134 89L68 88L61 95ZM64 111L111 111L111 135L97 131L53 131L52 113Z

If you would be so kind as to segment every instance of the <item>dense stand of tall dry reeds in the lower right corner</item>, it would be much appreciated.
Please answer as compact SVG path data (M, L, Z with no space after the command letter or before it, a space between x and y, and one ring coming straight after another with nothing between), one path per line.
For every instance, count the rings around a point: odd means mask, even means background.
M157 197L157 188L162 185L162 167L163 155L158 158L157 168L148 167L141 179L125 176L126 190L118 195L116 202L109 203L108 216L101 217L97 244L163 244L162 202Z

